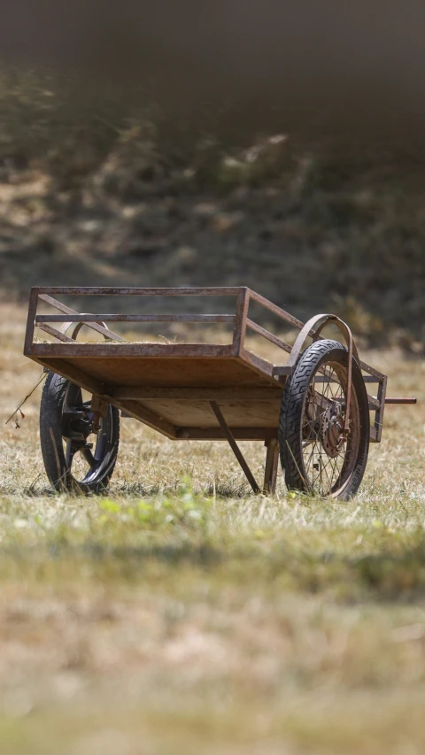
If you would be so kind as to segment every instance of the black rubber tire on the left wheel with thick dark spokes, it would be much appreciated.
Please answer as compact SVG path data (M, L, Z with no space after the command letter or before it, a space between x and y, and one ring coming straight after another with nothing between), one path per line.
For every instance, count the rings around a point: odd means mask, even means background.
M72 385L56 373L50 373L42 389L40 405L40 443L42 460L54 488L59 492L100 493L111 480L120 445L120 412L109 406L106 423L107 436L104 439L103 458L89 482L80 482L73 477L66 465L66 455L62 438L62 409L68 387Z

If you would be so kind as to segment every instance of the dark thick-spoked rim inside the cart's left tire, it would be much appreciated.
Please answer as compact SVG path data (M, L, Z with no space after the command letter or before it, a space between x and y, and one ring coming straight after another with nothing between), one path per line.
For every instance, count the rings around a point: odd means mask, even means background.
M95 416L90 411L91 400L83 400L81 388L69 383L62 406L62 440L66 474L81 486L97 482L100 469L109 453L112 412L99 418L95 433Z

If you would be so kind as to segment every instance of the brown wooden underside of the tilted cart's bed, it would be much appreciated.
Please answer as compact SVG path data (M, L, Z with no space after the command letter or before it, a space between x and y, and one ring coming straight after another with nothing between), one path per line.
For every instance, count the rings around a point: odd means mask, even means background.
M78 355L70 354L70 347L60 343L55 344L55 356L51 356L50 345L35 344L34 357L53 372L78 381L83 388L114 398L124 411L138 414L137 419L143 420L143 412L137 412L133 402L140 409L148 409L151 427L169 437L222 438L211 400L220 400L222 412L238 439L266 440L277 436L282 386L271 375L273 366L248 351L235 357L231 346L213 347L217 352L213 355L211 347L196 344L190 346L192 355L184 356L179 354L182 347L163 345L160 353L152 357L145 353L122 356L123 346L112 344L98 348L112 353L84 356L84 350L93 351L93 346L79 344L72 345ZM56 351L64 352L63 356L57 356Z

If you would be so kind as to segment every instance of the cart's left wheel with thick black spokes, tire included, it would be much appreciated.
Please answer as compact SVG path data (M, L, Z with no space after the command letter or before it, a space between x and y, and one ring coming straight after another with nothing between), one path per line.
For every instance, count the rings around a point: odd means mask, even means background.
M47 476L57 490L98 493L110 481L120 443L120 413L108 406L96 435L93 422L81 388L50 373L42 391L40 442Z

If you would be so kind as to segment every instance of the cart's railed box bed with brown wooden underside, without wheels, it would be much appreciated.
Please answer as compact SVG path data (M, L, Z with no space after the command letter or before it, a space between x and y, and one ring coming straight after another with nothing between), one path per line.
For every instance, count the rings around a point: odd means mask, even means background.
M226 296L236 299L236 311L227 315L81 314L52 295L133 297ZM270 440L277 437L282 391L292 371L288 355L292 347L248 317L250 302L265 307L286 327L303 323L254 291L236 289L32 289L28 312L25 354L51 371L89 390L122 412L141 420L173 439L225 439L211 402L220 411L238 440ZM37 314L39 304L49 314ZM47 305L47 306L46 306ZM51 313L51 310L56 313ZM211 343L143 343L124 341L109 323L226 322L233 326L228 345ZM54 324L55 327L52 327ZM87 325L100 343L75 339ZM283 325L283 323L282 323ZM35 327L54 339L37 343ZM66 333L73 328L73 335ZM244 348L246 329L277 346L282 358L277 365ZM371 440L379 440L385 401L385 376L361 363L367 381L375 381L377 397L369 397L375 411Z

